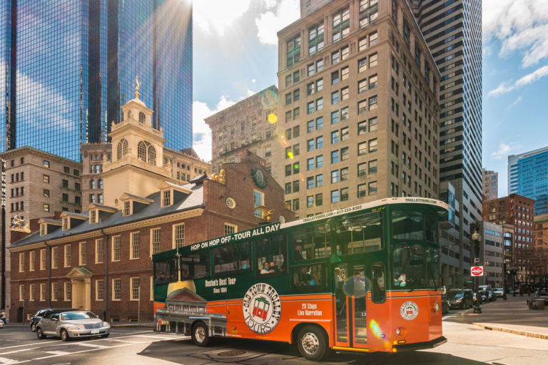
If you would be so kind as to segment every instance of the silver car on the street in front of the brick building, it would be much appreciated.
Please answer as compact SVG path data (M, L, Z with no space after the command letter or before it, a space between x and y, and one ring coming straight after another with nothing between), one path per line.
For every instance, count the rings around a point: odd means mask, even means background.
M61 340L110 334L111 326L89 311L49 313L36 324L36 336L59 336Z

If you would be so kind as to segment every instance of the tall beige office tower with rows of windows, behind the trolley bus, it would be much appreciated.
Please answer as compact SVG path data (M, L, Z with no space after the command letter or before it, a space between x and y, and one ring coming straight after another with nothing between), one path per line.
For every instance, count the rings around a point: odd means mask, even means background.
M318 4L311 1L310 6ZM278 32L278 160L298 217L439 195L440 73L406 1L320 1Z

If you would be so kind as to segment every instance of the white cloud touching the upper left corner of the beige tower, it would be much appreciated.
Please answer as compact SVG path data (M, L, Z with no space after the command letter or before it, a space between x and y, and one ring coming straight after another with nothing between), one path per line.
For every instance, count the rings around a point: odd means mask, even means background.
M275 46L278 44L278 31L299 19L300 2L299 0L281 0L277 6L273 6L274 1L263 1L269 10L259 14L259 17L255 19L258 28L257 36L260 43Z

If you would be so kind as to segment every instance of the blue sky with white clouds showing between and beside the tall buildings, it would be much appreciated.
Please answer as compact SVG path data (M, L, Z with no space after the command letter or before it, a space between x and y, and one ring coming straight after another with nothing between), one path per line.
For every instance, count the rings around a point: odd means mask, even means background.
M508 155L548 145L547 0L483 0L483 167L507 195ZM300 16L299 0L193 2L193 145L211 159L203 118L278 86L277 31Z

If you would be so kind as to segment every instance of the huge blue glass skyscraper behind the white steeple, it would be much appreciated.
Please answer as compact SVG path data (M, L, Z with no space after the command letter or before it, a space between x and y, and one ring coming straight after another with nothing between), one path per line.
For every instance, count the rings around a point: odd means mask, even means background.
M189 0L0 0L1 150L29 145L80 160L120 106L154 110L166 147L192 146Z

